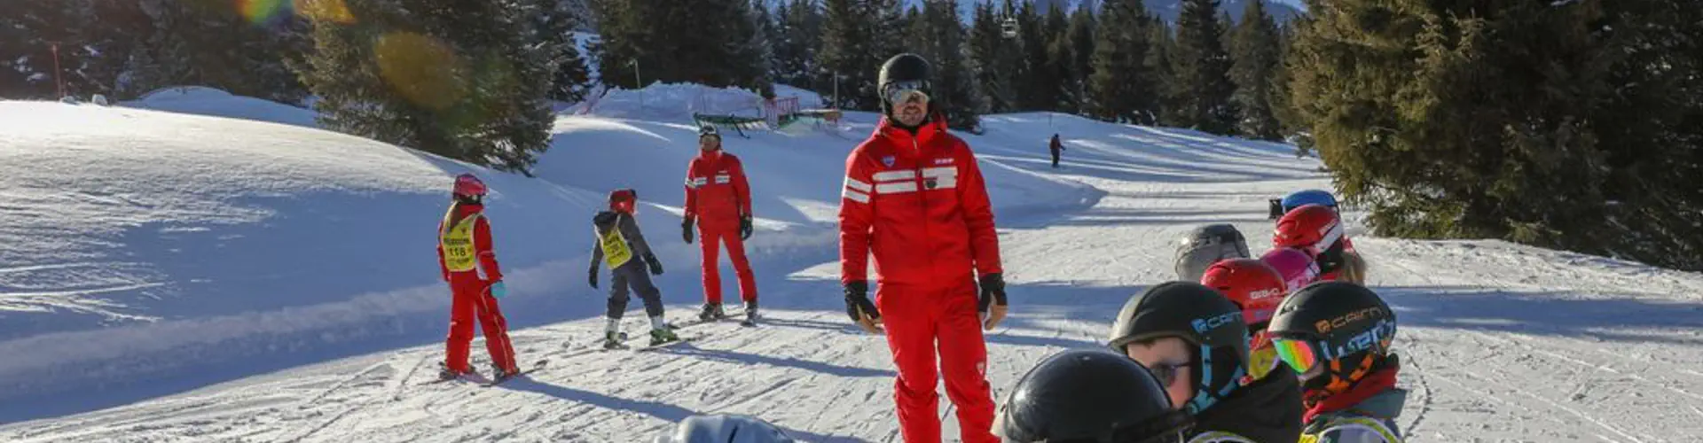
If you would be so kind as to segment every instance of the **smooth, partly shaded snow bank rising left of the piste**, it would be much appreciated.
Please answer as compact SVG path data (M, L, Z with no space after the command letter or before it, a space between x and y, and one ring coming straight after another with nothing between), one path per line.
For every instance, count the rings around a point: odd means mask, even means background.
M0 112L0 353L29 356L0 361L0 397L441 337L433 245L455 174L494 189L511 298L564 285L525 269L584 256L589 239L564 223L601 201L318 129L51 102Z

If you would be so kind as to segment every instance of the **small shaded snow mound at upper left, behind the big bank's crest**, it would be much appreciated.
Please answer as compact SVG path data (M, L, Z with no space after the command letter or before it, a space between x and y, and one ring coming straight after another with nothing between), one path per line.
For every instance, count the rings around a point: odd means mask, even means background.
M126 107L169 111L179 114L216 116L233 119L271 121L303 128L318 128L312 109L279 104L266 99L232 95L211 87L169 87L143 94L136 101L121 102Z

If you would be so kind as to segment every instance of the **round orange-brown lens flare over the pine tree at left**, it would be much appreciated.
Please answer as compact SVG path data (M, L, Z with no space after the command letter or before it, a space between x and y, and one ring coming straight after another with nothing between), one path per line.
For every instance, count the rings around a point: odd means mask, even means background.
M441 111L467 94L462 58L438 39L390 32L373 43L373 56L385 82L414 104Z

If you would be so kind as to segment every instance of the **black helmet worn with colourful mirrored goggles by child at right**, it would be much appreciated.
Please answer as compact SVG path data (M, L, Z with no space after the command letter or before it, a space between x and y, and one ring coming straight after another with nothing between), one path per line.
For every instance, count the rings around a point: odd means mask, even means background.
M1340 392L1366 373L1395 365L1390 354L1395 325L1395 310L1373 290L1320 281L1284 296L1265 331L1277 339L1313 342L1325 370L1304 387Z

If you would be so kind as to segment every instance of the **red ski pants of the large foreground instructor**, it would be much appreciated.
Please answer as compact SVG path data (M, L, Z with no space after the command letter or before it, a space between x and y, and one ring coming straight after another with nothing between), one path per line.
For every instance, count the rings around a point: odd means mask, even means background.
M940 441L938 375L945 375L947 399L957 406L959 433L966 443L998 443L993 428L993 392L988 388L988 344L981 337L976 283L969 278L949 288L880 285L875 308L887 329L892 365L899 368L892 400L908 443Z

